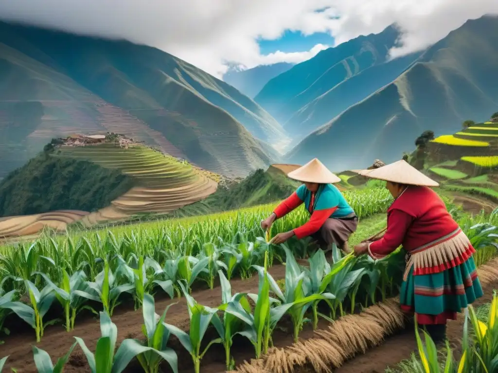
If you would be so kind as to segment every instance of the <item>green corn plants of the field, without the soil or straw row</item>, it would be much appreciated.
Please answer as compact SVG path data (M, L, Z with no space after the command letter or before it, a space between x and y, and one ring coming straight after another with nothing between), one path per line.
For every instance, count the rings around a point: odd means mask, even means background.
M391 203L387 194L385 189L366 189L347 193L347 198L359 216L367 217L386 210ZM374 261L369 256L343 257L332 246L333 262L328 263L324 252L306 239L271 245L259 223L273 207L46 236L5 246L0 256L0 333L7 331L3 325L6 318L17 315L40 341L45 327L52 323L44 316L58 302L68 332L74 329L79 312L90 309L100 317L101 339L114 341L98 343L92 358L85 342L76 338L70 352L79 345L91 368L92 359L112 358L107 370L93 372L119 371L116 367L124 369L134 357L144 372L158 372L162 361L176 372L176 353L166 347L171 334L191 356L196 373L212 344L223 345L229 370L235 364L230 352L235 334L250 341L258 358L272 346L272 332L284 316L290 318L297 341L306 322L317 328L319 318L332 321L397 293L404 263L401 250ZM495 255L496 249L490 247L496 246L497 215L463 216L459 220L478 250L477 263ZM270 235L295 228L307 218L305 211L295 211L277 220ZM298 265L296 257L307 259L308 265ZM276 262L285 264L283 286L268 272ZM259 280L257 294L232 294L231 279L254 275ZM205 283L212 289L216 281L222 288L220 305L198 304L192 288ZM157 292L187 299L188 331L167 323L167 309L155 310L150 294ZM132 299L135 309L143 312L145 342L126 339L115 354L117 331L111 318L125 298ZM155 312L162 315L156 317ZM201 351L208 324L218 337ZM68 357L69 353L66 361ZM36 359L42 362L50 358L37 350ZM3 363L0 361L0 368Z

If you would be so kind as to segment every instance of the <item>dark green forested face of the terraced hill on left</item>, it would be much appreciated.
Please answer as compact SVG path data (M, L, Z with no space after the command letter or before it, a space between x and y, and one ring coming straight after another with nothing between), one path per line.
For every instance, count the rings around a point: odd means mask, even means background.
M117 169L41 153L0 183L0 217L54 210L94 211L136 183Z

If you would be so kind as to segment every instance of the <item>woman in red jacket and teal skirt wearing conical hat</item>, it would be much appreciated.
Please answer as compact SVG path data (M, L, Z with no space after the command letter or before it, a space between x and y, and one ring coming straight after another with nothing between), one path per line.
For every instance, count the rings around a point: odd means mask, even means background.
M483 295L472 247L439 195L439 184L405 161L360 175L384 180L394 197L387 209L387 230L374 242L355 246L355 255L380 259L400 245L406 251L401 284L401 309L415 313L435 343L446 340L446 321L455 320L468 304Z

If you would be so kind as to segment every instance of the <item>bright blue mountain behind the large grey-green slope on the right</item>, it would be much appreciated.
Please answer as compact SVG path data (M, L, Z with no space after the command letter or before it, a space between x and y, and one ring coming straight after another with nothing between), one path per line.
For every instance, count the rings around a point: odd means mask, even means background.
M270 80L254 99L293 137L302 138L410 66L419 53L388 59L398 37L389 26L321 51Z

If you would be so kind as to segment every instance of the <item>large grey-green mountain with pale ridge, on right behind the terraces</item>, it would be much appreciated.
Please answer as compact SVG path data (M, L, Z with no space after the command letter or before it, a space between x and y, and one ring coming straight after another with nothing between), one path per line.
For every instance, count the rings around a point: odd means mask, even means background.
M304 138L286 161L318 157L334 170L388 163L424 130L454 133L498 107L498 17L469 20L427 49L392 83ZM337 145L335 145L337 144Z

